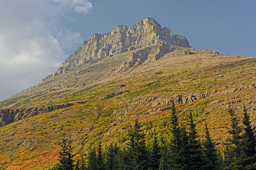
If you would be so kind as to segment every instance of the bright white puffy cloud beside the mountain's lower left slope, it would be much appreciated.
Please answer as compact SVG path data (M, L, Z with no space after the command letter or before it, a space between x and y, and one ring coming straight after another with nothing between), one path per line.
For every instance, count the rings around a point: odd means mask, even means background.
M9 25L10 26L10 25ZM1 28L0 97L38 83L60 66L65 54L40 22Z

